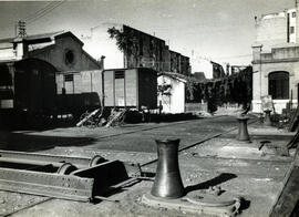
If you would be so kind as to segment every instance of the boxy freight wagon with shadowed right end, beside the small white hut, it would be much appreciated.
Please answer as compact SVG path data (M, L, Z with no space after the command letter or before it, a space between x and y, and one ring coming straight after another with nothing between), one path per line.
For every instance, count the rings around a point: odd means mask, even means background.
M106 107L157 107L157 72L147 68L103 71Z

